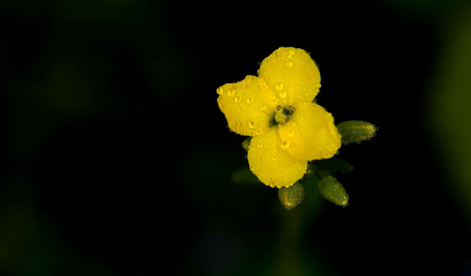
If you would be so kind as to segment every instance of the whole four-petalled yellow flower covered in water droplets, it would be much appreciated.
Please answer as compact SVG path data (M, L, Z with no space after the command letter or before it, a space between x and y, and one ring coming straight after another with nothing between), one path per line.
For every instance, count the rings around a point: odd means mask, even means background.
M265 185L289 187L306 173L308 161L331 158L341 135L332 114L312 103L321 77L306 51L280 47L257 72L219 87L219 109L232 131L252 136L252 173Z

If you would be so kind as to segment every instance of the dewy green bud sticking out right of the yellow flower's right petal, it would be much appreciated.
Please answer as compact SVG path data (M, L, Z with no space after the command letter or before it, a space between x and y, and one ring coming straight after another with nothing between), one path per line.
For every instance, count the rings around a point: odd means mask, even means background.
M376 136L378 128L365 121L345 121L337 125L337 130L342 134L342 143L348 145L371 140L371 137Z

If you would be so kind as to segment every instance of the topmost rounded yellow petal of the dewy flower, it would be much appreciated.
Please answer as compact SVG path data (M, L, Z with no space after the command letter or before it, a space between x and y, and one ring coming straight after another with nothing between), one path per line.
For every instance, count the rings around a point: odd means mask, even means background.
M258 73L284 107L312 102L321 87L319 69L303 49L278 48L263 60Z

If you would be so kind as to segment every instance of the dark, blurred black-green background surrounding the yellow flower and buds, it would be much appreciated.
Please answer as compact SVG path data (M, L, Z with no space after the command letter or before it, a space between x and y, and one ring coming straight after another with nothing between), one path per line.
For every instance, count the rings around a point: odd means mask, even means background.
M1 18L0 275L471 274L467 3L25 0ZM346 208L231 180L244 137L216 88L281 46L311 53L336 123L379 127L340 149Z

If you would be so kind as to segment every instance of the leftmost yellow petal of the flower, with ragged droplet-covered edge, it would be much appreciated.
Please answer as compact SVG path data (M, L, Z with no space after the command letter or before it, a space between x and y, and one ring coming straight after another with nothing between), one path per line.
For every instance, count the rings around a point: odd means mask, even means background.
M247 136L268 131L278 100L262 79L246 76L237 83L219 87L217 92L219 109L232 131Z

